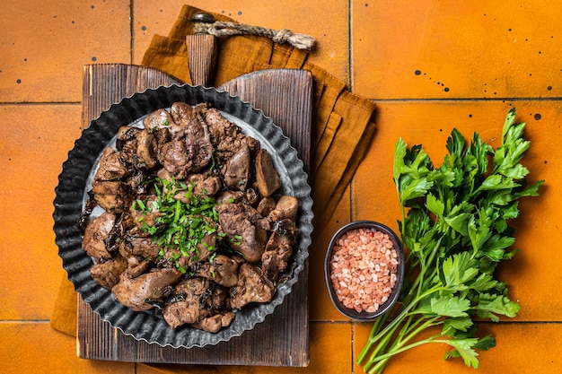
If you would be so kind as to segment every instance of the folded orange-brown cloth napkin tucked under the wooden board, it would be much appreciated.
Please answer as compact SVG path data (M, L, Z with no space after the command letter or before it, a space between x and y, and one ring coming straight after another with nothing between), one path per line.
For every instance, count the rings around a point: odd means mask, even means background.
M199 9L184 5L167 37L155 35L142 65L191 83L186 36L193 33L191 17ZM215 20L232 22L223 14ZM314 226L319 232L329 222L374 135L375 106L351 93L346 84L307 61L308 52L267 37L237 35L218 41L215 86L261 69L305 69L312 74L312 165L310 168ZM51 326L76 334L76 294L66 278L60 287Z

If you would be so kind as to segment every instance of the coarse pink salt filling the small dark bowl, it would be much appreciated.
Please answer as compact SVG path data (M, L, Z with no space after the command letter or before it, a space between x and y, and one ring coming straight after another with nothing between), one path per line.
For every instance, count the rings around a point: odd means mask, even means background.
M338 300L359 313L378 310L396 284L397 258L387 234L373 228L347 231L332 249L329 266Z

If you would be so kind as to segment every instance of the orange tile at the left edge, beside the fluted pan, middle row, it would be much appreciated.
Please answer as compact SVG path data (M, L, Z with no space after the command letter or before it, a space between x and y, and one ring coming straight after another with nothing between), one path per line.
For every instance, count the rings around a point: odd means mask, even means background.
M0 106L0 319L48 319L53 309L64 269L52 201L62 162L80 136L81 112L75 104Z

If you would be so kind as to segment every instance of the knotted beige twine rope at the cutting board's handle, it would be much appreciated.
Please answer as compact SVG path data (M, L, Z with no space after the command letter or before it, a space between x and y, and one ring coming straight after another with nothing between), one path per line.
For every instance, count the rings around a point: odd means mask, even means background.
M314 47L314 38L309 35L291 32L291 30L272 30L260 26L250 26L243 23L216 21L213 23L196 22L196 34L210 34L215 37L228 35L256 35L272 39L276 43L288 43L294 48L311 50Z

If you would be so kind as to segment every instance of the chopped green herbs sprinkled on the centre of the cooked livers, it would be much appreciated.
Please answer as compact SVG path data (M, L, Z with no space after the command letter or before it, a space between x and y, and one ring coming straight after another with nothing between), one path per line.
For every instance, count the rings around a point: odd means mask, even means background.
M154 201L137 199L131 209L143 213L158 214L154 224L145 222L144 216L138 221L142 222L141 229L153 236L153 242L160 245L161 249L157 258L165 256L164 248L177 248L179 253L167 258L174 262L181 273L186 269L180 265L180 257L188 257L198 261L200 256L198 246L206 246L210 252L209 260L216 255L216 246L208 246L203 239L208 235L216 235L217 243L224 238L224 232L218 231L218 213L215 210L215 197L198 196L194 194L194 183L184 181L154 178L151 181L156 193ZM177 199L178 194L183 194L187 203Z

